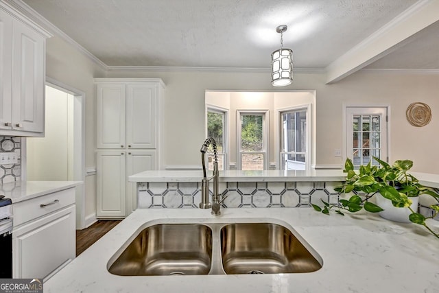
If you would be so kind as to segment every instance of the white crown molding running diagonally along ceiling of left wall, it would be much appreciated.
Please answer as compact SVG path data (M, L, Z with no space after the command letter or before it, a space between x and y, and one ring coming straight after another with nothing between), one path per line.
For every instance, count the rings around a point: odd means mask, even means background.
M7 1L12 7L14 7L16 10L19 10L21 13L25 14L29 19L32 19L35 23L40 25L41 27L44 27L47 31L49 31L54 36L58 36L62 40L66 41L75 49L78 49L84 56L86 56L91 61L95 62L99 67L101 67L104 70L108 70L108 66L99 60L96 56L90 53L87 49L82 47L80 44L78 44L73 38L68 36L66 33L62 32L58 27L56 27L53 23L45 19L41 14L36 12L33 8L31 8L29 5L24 3L22 0L5 0Z

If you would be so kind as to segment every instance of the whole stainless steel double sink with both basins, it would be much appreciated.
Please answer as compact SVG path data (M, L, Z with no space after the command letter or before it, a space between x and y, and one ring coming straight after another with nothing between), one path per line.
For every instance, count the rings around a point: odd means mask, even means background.
M320 255L293 231L272 221L153 224L128 240L128 246L108 262L108 271L157 276L278 274L322 268Z

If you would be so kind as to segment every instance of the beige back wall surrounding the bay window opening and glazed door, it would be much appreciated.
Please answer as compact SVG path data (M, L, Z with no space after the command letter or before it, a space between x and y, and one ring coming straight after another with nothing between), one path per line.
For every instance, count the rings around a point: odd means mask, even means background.
M204 91L273 91L270 74L224 72L110 71L108 77L162 78L166 87L164 103L165 148L168 165L193 165L199 161L204 141ZM334 156L342 149L344 104L390 106L390 161L412 159L414 171L439 174L438 143L439 75L376 73L360 71L336 84L324 84L326 75L296 73L294 82L280 91L316 90L316 165L343 165ZM433 112L424 128L410 126L405 110L412 102L425 102ZM182 110L184 109L184 110ZM436 127L435 127L436 126ZM190 139L188 139L190 137ZM179 143L176 148L175 142ZM185 154L182 156L181 154Z

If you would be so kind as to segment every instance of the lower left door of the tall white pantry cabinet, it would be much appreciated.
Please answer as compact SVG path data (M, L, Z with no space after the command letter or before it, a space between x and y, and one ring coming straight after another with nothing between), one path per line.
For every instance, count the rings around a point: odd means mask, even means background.
M97 218L126 215L126 152L97 152Z

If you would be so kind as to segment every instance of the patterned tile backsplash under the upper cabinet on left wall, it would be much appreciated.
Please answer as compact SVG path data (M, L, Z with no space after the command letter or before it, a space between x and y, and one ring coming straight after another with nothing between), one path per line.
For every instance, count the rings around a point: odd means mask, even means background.
M0 136L0 152L16 152L16 150L21 150L21 137ZM21 180L21 156L19 156L19 163L0 165L0 183L19 180Z

